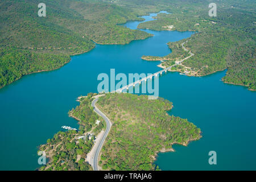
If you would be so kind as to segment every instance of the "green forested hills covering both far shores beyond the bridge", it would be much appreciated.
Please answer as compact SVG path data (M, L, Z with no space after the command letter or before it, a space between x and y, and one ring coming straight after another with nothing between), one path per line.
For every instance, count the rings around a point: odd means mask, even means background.
M225 82L255 90L253 0L218 1L216 17L208 16L209 0L47 0L44 2L47 5L44 18L37 14L39 2L0 2L0 88L28 73L61 67L69 61L69 55L94 48L92 40L99 44L126 44L145 39L151 35L118 24L142 20L139 15L167 10L171 14L159 14L157 20L141 23L138 27L197 31L185 45L195 53L184 61L185 67L196 70L198 76L228 68L223 78ZM174 48L171 43L169 46ZM184 52L177 50L174 48L172 55L161 58L180 59ZM15 60L11 55L16 57ZM24 57L26 61L22 64Z

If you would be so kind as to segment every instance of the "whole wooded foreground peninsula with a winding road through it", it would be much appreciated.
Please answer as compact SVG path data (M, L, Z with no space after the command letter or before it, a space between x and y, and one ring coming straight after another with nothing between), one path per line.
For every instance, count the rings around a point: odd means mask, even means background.
M102 138L106 127L102 118L93 111L92 101L97 94L80 97L80 105L69 111L79 120L80 131L60 131L47 144L40 146L49 158L42 170L92 170L90 150ZM170 101L129 93L108 93L94 102L98 110L110 119L111 129L100 146L96 169L154 170L158 152L174 151L172 144L187 146L189 141L201 138L201 131L187 119L168 115L173 106ZM100 119L101 125L96 121ZM90 135L93 137L89 138ZM85 137L84 137L85 136ZM100 142L100 141L98 141ZM97 146L96 146L97 147ZM93 152L95 153L95 152ZM89 162L89 163L88 163Z

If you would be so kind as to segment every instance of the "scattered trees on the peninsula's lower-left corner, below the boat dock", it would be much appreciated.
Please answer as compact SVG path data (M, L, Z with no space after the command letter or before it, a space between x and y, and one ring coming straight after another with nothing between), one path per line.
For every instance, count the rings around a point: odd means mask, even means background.
M76 139L78 136L74 130L59 131L47 144L40 146L41 151L46 152L49 162L40 168L47 171L68 170L92 170L90 164L85 162L86 154L93 146L93 139Z

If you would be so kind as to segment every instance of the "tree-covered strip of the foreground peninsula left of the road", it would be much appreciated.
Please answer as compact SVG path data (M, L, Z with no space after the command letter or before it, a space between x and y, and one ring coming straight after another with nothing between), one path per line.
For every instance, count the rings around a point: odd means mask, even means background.
M59 131L52 139L48 139L46 144L39 147L40 151L45 151L49 159L40 170L92 170L86 162L86 155L92 149L94 137L89 139L87 134L96 136L105 128L102 118L93 112L91 102L92 96L96 94L88 93L86 97L80 98L80 106L69 111L69 115L79 120L79 131ZM96 119L101 122L97 125ZM84 139L77 137L85 136Z

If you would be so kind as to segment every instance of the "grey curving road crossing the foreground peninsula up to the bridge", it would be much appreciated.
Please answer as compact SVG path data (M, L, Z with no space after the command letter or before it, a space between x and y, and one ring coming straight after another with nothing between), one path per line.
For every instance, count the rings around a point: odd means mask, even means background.
M100 111L97 108L97 106L95 105L97 101L98 101L98 98L96 98L92 101L93 110L98 115L100 115L102 118L104 118L104 120L106 122L106 130L104 131L103 137L100 139L100 142L98 143L96 151L94 152L93 157L92 157L93 158L93 166L92 167L93 167L94 171L99 171L99 169L98 169L98 157L100 155L101 147L103 146L103 143L104 143L106 137L108 136L110 128L112 126L112 123L109 121L109 118L106 117L106 115L104 113L102 113L102 111Z

